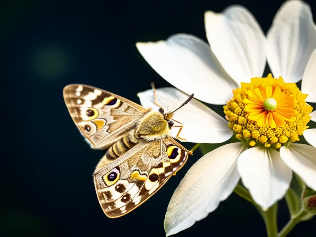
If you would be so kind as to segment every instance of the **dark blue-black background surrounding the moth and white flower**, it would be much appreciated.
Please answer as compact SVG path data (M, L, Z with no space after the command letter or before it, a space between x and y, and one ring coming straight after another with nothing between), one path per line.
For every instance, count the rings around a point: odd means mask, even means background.
M204 12L248 8L267 32L283 1L1 1L3 236L164 236L173 191L200 151L147 202L118 219L98 203L92 173L104 151L89 148L64 104L70 83L139 103L137 92L170 86L142 58L137 41L190 33L206 41ZM316 15L316 4L307 1ZM315 39L316 40L316 39ZM207 41L206 41L207 42ZM185 143L191 149L192 143ZM278 224L289 220L284 199ZM315 236L315 219L289 236ZM232 194L176 236L266 236L255 207Z

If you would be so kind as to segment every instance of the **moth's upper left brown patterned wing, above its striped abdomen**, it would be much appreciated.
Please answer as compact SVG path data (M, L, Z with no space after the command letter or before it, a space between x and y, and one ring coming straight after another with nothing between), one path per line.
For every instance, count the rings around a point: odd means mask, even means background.
M63 94L73 121L94 149L108 148L145 110L119 95L87 85L68 85Z

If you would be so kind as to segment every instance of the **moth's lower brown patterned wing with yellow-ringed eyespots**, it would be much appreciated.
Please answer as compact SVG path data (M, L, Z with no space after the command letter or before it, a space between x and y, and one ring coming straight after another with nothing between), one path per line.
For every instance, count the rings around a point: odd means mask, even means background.
M186 162L188 153L171 137L140 143L94 173L99 203L110 218L143 204Z

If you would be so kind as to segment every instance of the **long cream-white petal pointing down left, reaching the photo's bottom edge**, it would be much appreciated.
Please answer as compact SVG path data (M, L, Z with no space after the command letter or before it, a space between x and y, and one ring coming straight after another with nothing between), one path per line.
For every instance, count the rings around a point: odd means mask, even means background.
M174 191L165 216L167 236L191 227L214 211L234 190L244 143L230 143L199 159Z

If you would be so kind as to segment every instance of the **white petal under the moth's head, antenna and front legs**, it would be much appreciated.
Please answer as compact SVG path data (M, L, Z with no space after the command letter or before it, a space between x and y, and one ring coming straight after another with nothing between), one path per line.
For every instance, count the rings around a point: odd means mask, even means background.
M157 103L164 111L172 111L182 105L189 98L188 94L176 88L156 89ZM142 106L152 107L158 111L159 107L154 104L153 90L146 90L137 94ZM221 143L228 140L233 131L228 128L228 122L194 98L185 106L174 113L173 118L184 126L179 137L193 143ZM177 125L175 122L174 125ZM176 137L178 127L171 129L171 136Z

